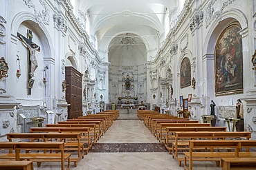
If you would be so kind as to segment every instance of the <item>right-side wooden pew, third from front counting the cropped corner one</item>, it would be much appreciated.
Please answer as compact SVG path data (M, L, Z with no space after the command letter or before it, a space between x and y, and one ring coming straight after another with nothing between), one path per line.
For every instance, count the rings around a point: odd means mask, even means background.
M197 131L197 132L176 132L175 133L175 142L172 142L172 158L175 158L179 162L181 167L181 162L183 158L178 157L179 150L188 150L189 141L191 139L222 139L225 140L234 139L234 138L246 138L249 140L251 138L251 132L248 131Z

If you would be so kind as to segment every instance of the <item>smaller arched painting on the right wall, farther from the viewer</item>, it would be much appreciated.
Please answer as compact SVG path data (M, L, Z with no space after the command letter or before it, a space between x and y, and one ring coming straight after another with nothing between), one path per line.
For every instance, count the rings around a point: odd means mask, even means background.
M190 59L185 57L181 62L181 88L191 85L191 66Z

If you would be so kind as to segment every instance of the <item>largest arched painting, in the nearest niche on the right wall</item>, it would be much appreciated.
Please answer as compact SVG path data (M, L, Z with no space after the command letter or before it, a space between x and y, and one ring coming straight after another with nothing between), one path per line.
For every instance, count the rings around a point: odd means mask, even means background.
M229 25L217 40L214 52L216 96L244 91L243 52L237 23Z

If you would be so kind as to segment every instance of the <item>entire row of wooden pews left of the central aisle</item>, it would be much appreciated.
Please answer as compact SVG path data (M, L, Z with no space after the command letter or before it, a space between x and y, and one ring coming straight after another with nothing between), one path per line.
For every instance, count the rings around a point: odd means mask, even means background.
M46 127L31 127L30 133L6 134L9 142L0 142L0 149L7 150L0 153L0 159L5 162L0 161L0 169L33 169L31 161L37 162L38 167L42 162L61 162L62 170L65 162L66 169L71 169L71 162L77 167L84 153L88 153L118 116L119 111L104 111L46 124Z

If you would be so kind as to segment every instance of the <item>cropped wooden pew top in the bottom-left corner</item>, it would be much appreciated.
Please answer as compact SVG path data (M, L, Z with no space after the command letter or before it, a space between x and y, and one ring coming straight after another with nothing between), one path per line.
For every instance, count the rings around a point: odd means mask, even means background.
M4 170L33 170L33 162L32 161L12 161L12 160L3 160L0 161L0 169Z

